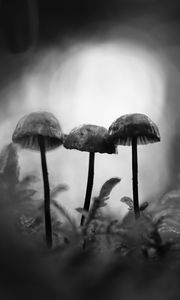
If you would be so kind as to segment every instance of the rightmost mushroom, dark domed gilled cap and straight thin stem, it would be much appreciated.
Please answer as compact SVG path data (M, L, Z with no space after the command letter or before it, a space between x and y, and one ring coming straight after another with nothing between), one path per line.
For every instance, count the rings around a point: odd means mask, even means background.
M144 114L127 114L115 120L109 127L111 141L115 145L132 145L133 202L135 218L140 216L138 200L137 145L160 141L157 125Z

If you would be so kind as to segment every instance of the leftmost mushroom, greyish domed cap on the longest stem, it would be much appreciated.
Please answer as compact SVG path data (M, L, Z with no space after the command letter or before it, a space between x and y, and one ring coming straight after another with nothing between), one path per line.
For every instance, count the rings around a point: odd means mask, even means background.
M12 136L22 148L40 151L44 182L44 214L46 243L52 247L52 227L50 213L50 188L46 163L46 151L62 145L63 134L55 116L49 112L34 112L25 115L18 122Z

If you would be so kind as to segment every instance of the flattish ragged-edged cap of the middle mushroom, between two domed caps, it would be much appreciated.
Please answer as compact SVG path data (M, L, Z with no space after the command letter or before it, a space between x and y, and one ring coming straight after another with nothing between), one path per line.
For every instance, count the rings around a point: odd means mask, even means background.
M110 142L107 129L90 124L72 129L65 138L64 147L86 152L116 153L116 147Z

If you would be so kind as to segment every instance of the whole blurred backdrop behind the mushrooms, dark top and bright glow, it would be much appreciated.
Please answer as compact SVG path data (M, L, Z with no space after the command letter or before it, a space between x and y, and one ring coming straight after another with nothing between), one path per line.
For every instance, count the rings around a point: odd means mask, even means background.
M83 123L108 128L122 114L141 112L158 125L161 143L138 149L140 201L178 187L179 17L175 0L1 0L1 148L32 111L54 113L66 134ZM88 154L61 147L47 158L51 186L69 186L58 201L76 214ZM19 161L21 178L34 173L41 179L38 153L19 150ZM120 216L120 198L132 197L130 147L96 155L93 196L116 176L122 181L108 209Z

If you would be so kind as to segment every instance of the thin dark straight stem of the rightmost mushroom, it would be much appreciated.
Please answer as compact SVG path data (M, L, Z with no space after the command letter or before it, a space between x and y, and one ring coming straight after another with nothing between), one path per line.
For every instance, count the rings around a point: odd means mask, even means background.
M137 137L132 137L132 173L133 173L133 202L135 218L140 217L138 199L138 157L137 157Z

